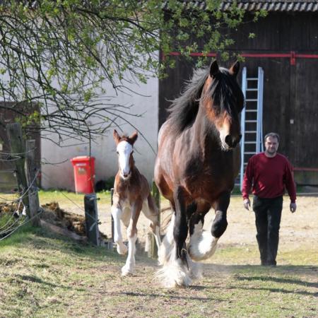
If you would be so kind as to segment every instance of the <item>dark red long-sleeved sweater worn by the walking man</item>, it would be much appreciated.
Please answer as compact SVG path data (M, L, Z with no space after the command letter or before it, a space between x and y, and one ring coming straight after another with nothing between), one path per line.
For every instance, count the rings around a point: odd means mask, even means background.
M260 198L281 196L286 187L290 201L296 201L293 167L288 159L279 153L273 158L266 157L265 153L258 153L249 159L242 187L244 199L249 197L251 187L252 193Z

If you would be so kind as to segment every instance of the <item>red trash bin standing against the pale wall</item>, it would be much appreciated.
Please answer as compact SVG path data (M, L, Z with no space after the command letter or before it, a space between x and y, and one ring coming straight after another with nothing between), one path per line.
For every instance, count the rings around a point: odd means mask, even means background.
M89 194L94 192L95 158L81 155L71 159L74 170L76 193Z

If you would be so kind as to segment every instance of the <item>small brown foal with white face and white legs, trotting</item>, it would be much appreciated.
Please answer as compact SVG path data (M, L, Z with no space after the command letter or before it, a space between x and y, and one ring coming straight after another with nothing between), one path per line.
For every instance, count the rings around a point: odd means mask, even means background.
M122 276L134 272L135 251L137 240L137 222L141 211L150 220L151 231L155 235L155 242L160 245L158 208L146 177L141 175L134 164L134 143L138 137L135 132L131 136L119 136L114 130L114 141L117 146L119 170L114 181L114 196L112 217L114 218L114 242L117 252L126 254L126 264L122 267ZM122 240L121 221L127 229L128 249Z

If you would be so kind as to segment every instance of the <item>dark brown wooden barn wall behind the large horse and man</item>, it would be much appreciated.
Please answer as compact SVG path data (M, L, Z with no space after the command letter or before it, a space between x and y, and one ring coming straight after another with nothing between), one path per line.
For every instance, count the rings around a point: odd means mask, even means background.
M247 35L255 33L254 39ZM318 54L318 13L269 13L258 23L245 23L232 33L235 45L229 52L241 54ZM168 70L169 77L160 81L160 118L167 117L168 100L177 97L184 81L192 76L192 63L180 57L177 68ZM233 61L233 60L232 60ZM221 65L229 67L230 62ZM249 77L257 76L257 67L264 69L264 134L276 131L281 135L279 151L295 167L318 168L318 59L296 57L246 57L241 64ZM241 81L241 73L238 76ZM299 181L295 172L296 181ZM317 172L301 175L301 183L317 184Z

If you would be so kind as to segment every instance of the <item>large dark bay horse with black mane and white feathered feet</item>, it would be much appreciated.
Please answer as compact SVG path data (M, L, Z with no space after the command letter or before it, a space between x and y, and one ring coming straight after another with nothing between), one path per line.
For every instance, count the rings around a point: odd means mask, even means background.
M199 278L194 261L211 257L228 225L230 192L240 167L244 96L239 70L239 62L224 69L213 61L208 70L196 71L159 131L155 182L173 211L159 251L158 277L166 287ZM216 214L209 232L202 228L211 207Z

